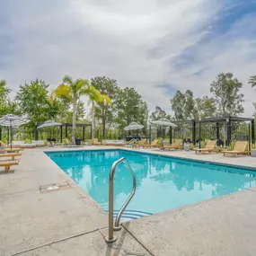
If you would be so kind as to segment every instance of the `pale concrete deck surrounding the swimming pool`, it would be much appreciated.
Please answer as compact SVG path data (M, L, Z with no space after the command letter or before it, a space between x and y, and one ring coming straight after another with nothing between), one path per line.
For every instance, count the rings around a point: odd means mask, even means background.
M26 149L14 172L0 175L0 255L255 255L256 188L123 224L107 244L108 216L43 151ZM256 168L256 158L193 152L141 152ZM60 190L46 191L49 184Z

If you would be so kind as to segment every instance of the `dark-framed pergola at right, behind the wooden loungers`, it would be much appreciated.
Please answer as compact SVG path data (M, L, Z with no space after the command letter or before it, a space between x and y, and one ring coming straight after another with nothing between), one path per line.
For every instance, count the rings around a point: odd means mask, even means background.
M243 118L243 117L220 117L220 118L209 118L209 119L187 119L187 120L180 120L180 121L173 121L175 124L183 125L185 123L191 124L192 128L192 143L196 144L196 131L197 131L197 124L199 124L199 146L200 146L200 137L201 137L201 124L202 123L215 123L216 124L216 139L219 140L220 133L219 127L221 123L225 124L226 128L226 144L229 145L232 138L232 123L234 122L250 122L251 126L249 125L249 138L251 137L251 130L252 130L252 144L255 143L255 124L254 119L252 118ZM170 141L172 141L172 128L170 132ZM251 140L249 139L249 143ZM251 145L250 145L251 146Z

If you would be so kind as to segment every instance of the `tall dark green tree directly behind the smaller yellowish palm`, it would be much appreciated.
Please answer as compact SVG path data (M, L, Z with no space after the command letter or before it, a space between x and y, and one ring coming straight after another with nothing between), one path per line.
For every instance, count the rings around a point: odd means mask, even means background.
M106 76L96 76L91 80L91 84L102 95L105 95L107 100L97 102L95 105L95 118L102 122L102 137L106 135L106 124L111 124L115 119L117 97L119 95L119 86L117 81ZM110 99L111 102L108 100Z

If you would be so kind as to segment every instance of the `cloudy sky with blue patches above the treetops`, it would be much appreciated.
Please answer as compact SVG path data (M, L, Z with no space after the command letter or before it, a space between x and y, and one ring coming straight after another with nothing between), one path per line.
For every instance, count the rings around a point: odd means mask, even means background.
M0 0L0 79L17 92L36 78L106 75L170 112L177 90L210 95L220 72L256 92L256 0Z

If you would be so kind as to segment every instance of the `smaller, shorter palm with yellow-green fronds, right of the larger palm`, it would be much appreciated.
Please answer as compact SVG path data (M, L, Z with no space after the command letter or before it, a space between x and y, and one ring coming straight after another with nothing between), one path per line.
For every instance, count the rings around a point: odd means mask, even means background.
M94 137L95 132L95 102L96 103L106 103L111 104L110 97L107 95L102 94L100 91L98 91L95 87L92 85L88 88L87 92L90 101L92 102L92 137Z

